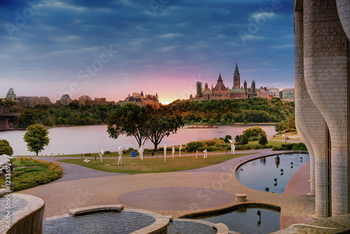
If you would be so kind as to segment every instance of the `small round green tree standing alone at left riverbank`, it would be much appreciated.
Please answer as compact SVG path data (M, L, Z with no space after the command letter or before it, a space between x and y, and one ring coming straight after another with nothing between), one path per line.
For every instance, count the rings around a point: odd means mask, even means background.
M36 153L36 156L38 156L38 153L44 149L44 146L48 146L50 143L48 130L40 123L30 125L27 128L27 132L25 132L23 139L27 142L27 148L29 151Z

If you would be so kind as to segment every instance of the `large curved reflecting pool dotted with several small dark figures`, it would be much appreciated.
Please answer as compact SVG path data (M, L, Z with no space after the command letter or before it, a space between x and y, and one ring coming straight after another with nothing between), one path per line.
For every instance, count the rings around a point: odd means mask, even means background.
M279 164L275 162L275 158L276 156L269 156L244 163L238 167L236 178L248 188L258 191L265 191L265 188L269 188L269 193L283 193L290 177L309 161L309 155L285 153L279 156Z

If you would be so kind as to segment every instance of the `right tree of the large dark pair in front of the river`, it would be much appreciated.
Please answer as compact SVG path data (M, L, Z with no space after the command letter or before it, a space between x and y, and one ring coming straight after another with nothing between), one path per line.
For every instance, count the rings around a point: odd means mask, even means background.
M153 106L146 106L148 112L147 132L148 139L154 144L154 149L157 151L158 144L162 139L170 134L176 133L178 128L184 125L182 117L179 114L174 114L171 109L161 107L155 109Z

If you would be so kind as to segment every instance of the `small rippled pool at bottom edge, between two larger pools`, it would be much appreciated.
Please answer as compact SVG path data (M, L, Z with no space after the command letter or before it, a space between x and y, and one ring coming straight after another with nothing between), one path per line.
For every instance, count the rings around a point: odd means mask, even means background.
M169 224L168 234L215 234L216 230L203 223L194 223L186 221L173 221Z

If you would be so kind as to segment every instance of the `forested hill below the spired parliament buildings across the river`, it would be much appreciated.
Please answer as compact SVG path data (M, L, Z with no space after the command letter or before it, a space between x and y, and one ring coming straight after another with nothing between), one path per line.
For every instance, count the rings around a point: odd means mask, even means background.
M177 100L167 107L181 113L185 123L269 123L281 122L293 114L294 102L279 98Z

